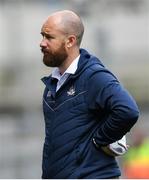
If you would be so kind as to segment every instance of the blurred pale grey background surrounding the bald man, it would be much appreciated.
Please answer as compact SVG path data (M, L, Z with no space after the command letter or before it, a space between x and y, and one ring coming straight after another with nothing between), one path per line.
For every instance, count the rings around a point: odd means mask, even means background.
M103 61L139 105L140 119L127 137L130 149L149 137L148 0L0 0L0 178L41 177L40 79L51 69L42 63L40 30L49 14L62 9L82 17L82 47ZM130 159L118 159L122 177L131 177ZM149 172L149 158L146 166Z

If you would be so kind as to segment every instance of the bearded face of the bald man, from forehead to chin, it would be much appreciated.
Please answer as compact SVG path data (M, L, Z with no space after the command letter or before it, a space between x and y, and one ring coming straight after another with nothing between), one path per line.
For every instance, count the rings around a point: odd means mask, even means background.
M60 67L67 59L64 34L47 21L42 29L43 39L40 43L43 62L49 67Z

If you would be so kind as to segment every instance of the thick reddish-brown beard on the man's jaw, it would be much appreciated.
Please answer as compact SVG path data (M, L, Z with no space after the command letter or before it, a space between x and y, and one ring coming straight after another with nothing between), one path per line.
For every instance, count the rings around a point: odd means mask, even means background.
M62 45L56 52L46 53L43 57L43 62L48 67L60 67L67 57L66 50Z

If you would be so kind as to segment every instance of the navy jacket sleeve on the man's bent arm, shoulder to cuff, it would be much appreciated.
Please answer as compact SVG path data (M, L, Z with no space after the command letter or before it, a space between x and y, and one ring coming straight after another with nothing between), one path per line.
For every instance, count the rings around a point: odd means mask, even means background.
M130 131L139 117L139 110L132 96L108 70L93 73L88 85L89 108L105 117L94 140L99 146L106 146Z

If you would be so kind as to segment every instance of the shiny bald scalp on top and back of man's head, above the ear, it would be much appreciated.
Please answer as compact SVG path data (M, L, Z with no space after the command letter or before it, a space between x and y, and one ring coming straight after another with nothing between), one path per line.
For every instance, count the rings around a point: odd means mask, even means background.
M57 11L48 17L48 20L54 19L57 28L66 35L75 35L77 45L80 46L84 34L84 25L81 18L73 11Z

